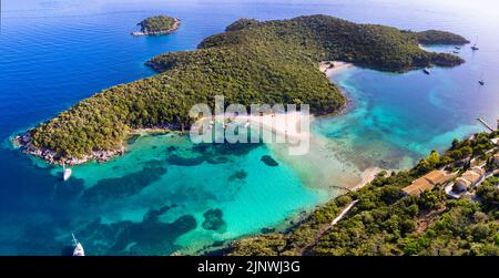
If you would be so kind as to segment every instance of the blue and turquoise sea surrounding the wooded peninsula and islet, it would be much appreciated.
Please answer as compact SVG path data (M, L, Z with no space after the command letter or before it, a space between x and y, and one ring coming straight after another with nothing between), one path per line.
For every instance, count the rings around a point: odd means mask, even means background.
M499 4L492 0L16 0L0 29L0 255L64 255L71 233L89 255L196 254L241 236L285 229L360 181L371 167L408 168L431 148L499 116ZM136 22L166 13L183 24L134 38ZM332 81L350 99L313 122L309 154L277 145L193 145L176 134L135 137L105 164L61 169L9 138L99 90L155 74L143 62L193 50L238 18L325 13L401 29L442 29L480 45L467 63L404 74L348 69ZM449 52L452 47L432 47ZM478 79L483 76L485 86ZM269 155L277 166L261 161Z

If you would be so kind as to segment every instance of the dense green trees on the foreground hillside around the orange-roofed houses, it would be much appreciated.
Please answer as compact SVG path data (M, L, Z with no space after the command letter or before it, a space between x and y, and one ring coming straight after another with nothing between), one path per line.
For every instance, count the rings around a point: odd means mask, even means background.
M452 150L480 145L485 137L456 141ZM446 153L452 153L449 150ZM477 198L448 199L440 187L420 196L405 196L401 188L424 172L436 168L435 152L407 172L381 173L358 192L340 196L315 210L285 234L241 239L232 255L499 255L499 177L478 187ZM445 158L447 159L447 158ZM427 168L426 171L430 171ZM342 222L329 223L353 199L356 206Z

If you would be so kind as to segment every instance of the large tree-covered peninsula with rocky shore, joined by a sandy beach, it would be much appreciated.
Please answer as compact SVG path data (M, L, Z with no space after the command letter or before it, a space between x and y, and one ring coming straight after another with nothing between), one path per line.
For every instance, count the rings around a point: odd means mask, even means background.
M78 164L122 152L135 128L190 126L191 106L213 104L214 95L244 105L307 103L315 114L334 113L345 97L318 70L320 61L397 72L464 62L456 55L422 50L421 38L426 43L441 41L328 16L264 22L242 19L226 32L205 39L197 50L150 60L147 64L160 74L103 90L18 141L24 152L51 163ZM446 38L467 42L456 34L446 33Z

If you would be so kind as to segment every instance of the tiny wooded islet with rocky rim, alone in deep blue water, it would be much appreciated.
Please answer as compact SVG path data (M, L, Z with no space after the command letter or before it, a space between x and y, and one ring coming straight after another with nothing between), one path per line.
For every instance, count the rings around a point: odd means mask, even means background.
M166 16L146 18L138 23L141 27L140 32L133 32L132 35L162 35L169 34L179 29L181 20Z

